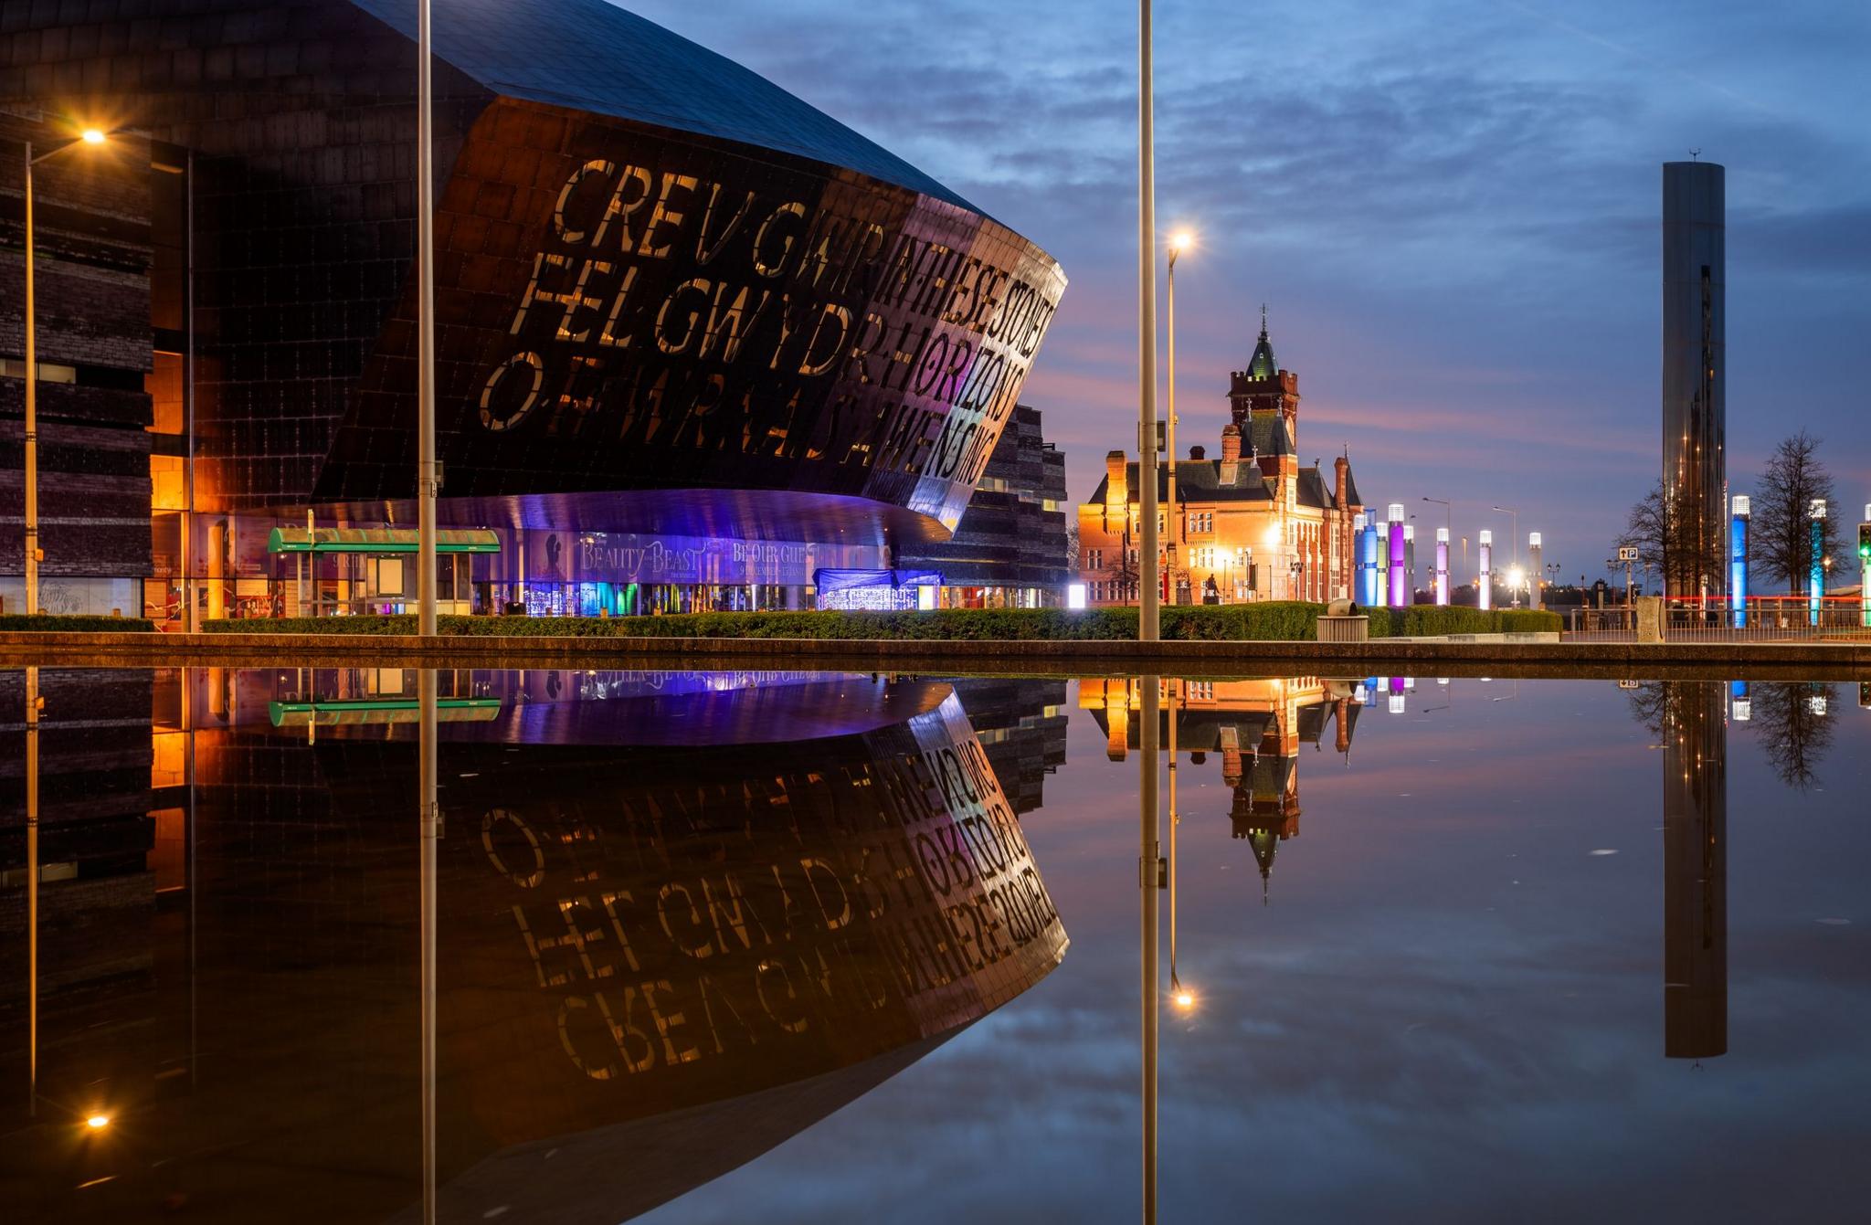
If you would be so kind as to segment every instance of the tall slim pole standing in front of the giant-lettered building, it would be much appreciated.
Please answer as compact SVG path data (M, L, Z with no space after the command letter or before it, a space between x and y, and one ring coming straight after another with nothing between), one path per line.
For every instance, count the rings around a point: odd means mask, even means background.
M415 17L415 598L417 632L436 634L436 170L428 0Z

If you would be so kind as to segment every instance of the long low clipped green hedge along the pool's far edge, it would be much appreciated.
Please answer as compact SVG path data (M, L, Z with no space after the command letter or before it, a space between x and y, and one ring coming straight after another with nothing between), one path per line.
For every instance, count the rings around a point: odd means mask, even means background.
M1196 604L1162 610L1166 640L1312 641L1319 604ZM1371 638L1557 630L1559 613L1474 608L1366 610ZM210 634L413 634L415 617L206 621ZM516 638L1136 638L1136 608L950 608L941 612L679 613L668 617L440 617L443 634Z

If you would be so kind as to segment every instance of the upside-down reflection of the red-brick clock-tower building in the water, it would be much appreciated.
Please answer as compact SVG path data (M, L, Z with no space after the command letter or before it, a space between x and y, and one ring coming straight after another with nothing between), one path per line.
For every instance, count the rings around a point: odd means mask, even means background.
M1188 754L1192 765L1203 765L1209 754L1220 754L1227 817L1235 838L1254 849L1265 896L1280 843L1298 836L1298 750L1319 748L1330 728L1332 750L1349 754L1358 705L1342 685L1317 677L1182 681L1177 690L1177 756ZM1123 761L1139 744L1138 681L1083 679L1078 694L1106 733L1106 754ZM1158 744L1168 744L1168 701L1158 718Z

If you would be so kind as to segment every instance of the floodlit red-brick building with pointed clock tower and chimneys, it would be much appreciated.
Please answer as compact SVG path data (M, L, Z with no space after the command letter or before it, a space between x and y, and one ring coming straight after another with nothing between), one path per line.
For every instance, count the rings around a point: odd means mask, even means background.
M1364 509L1351 460L1336 458L1330 471L1300 466L1298 374L1274 361L1265 318L1254 359L1233 374L1227 400L1222 456L1190 447L1186 460L1175 460L1175 507L1168 503L1168 468L1156 473L1168 516L1160 540L1173 542L1177 555L1175 602L1349 597L1351 520ZM1139 497L1138 466L1111 451L1104 481L1078 509L1078 561L1093 604L1136 600Z

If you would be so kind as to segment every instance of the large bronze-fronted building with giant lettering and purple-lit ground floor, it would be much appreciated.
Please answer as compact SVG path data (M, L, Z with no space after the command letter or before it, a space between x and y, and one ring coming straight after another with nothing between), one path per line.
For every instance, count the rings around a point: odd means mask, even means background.
M183 559L208 615L400 608L413 574L384 546L413 548L415 518L413 6L15 7L0 140L137 133L37 178L49 580L116 580L64 589L122 606L153 529L157 574L125 612L174 608ZM821 570L889 587L900 552L947 539L1059 266L604 0L434 9L440 522L498 542L445 559L445 606L790 608ZM15 249L17 185L0 157ZM19 267L0 264L0 337L21 335ZM19 355L0 352L0 430ZM275 552L307 511L329 535ZM342 535L385 527L369 552ZM0 576L19 533L0 520Z

